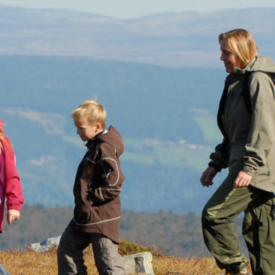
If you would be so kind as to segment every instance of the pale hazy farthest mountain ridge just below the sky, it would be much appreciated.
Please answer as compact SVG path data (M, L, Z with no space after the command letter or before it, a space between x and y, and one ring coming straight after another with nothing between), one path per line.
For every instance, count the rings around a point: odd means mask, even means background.
M261 5L261 3L259 3ZM0 6L0 54L85 56L169 67L221 67L217 36L246 28L275 59L275 8L154 14L133 20Z

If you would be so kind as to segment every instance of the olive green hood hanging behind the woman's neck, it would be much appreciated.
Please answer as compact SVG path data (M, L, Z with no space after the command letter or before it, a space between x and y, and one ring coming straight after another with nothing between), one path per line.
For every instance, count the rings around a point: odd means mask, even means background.
M244 68L239 69L237 67L233 68L233 73L245 74L245 72L251 71L263 71L275 73L275 62L272 61L267 56L255 56L250 63Z

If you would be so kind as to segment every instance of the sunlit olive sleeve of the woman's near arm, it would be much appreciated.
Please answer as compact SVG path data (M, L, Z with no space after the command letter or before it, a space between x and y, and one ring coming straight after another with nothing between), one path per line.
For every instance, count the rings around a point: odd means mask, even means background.
M265 152L275 141L274 84L263 72L251 76L250 101L252 118L242 170L253 176L260 166L266 165Z

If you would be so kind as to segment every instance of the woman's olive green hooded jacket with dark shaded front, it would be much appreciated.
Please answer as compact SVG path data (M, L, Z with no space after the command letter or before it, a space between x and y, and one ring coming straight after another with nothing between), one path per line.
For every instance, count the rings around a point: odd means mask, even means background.
M250 75L252 114L241 94L245 71ZM275 87L270 76L275 63L266 56L256 56L245 69L234 67L228 75L230 85L221 121L226 134L223 143L210 155L210 165L238 175L240 170L252 176L251 185L275 191Z

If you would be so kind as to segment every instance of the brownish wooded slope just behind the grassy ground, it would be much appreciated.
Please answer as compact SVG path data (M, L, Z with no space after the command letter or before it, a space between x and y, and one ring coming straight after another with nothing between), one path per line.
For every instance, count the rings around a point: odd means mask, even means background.
M19 221L5 224L0 238L1 250L25 248L30 243L59 236L72 219L72 208L24 206ZM241 239L241 219L236 220ZM203 243L201 219L188 214L122 211L121 239L142 245L157 245L164 252L180 256L210 256ZM241 239L242 240L242 239ZM244 242L241 249L246 252Z

